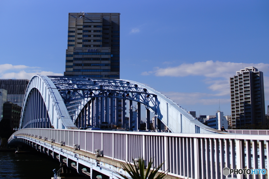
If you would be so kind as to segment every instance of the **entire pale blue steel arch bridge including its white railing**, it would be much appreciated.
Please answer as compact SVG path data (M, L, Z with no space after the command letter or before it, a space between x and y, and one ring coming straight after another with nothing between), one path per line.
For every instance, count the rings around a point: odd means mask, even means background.
M134 105L137 132L132 132ZM157 117L157 131L161 121L172 133L140 132L141 118L150 131L150 113ZM128 131L79 130L103 123ZM130 80L34 75L24 96L20 130L9 138L14 142L91 178L121 178L118 172L130 178L119 162L132 163L132 158L154 158L153 167L164 163L160 171L179 178L225 178L225 167L269 170L267 135L224 135L160 92Z

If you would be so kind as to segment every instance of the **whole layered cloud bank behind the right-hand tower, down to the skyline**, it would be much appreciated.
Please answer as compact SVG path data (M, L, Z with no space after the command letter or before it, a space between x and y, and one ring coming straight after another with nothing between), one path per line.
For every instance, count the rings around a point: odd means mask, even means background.
M166 63L169 64L169 63ZM269 71L268 63L244 63L245 67L256 67L264 74ZM154 67L152 71L144 71L141 75L154 75L157 77L186 77L186 76L204 76L204 83L207 89L215 94L207 93L183 93L183 92L162 92L169 98L186 105L212 105L218 104L219 99L222 103L230 103L230 84L229 77L236 75L236 71L243 69L242 63L233 62L206 62L183 63L176 67L160 68ZM264 76L264 94L265 100L269 100L269 77Z

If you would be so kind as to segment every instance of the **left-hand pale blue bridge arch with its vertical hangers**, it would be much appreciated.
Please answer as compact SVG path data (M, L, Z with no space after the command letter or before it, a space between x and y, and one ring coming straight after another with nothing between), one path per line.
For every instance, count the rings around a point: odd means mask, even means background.
M50 78L34 75L27 86L20 128L76 129L61 95Z

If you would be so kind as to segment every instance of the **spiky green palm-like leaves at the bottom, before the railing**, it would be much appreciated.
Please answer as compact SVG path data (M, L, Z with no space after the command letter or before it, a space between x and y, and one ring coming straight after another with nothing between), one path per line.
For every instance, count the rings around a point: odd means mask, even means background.
M136 163L133 159L134 164ZM165 177L165 172L163 173L159 173L157 175L157 177L155 177L155 175L158 173L158 170L160 170L161 166L163 165L160 164L160 166L158 166L156 169L155 167L153 168L153 170L151 169L153 160L150 159L150 162L148 163L148 167L146 170L146 173L144 173L144 160L143 159L139 159L139 167L137 167L136 165L134 165L134 167L131 165L131 163L127 163L127 166L122 165L122 167L128 172L128 174L133 178L133 179L162 179ZM129 179L128 177L124 176L121 173L118 173L121 177L125 178L125 179Z

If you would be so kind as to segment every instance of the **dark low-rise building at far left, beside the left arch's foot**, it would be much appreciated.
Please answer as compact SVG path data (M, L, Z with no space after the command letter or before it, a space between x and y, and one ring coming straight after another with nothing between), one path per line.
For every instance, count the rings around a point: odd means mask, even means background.
M8 120L10 128L19 128L20 125L20 114L22 107L12 102L6 102L3 104L3 120Z

